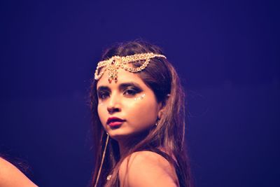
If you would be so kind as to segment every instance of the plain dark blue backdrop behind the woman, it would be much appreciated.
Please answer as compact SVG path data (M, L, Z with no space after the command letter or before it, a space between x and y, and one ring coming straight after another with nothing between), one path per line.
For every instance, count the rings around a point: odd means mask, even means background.
M195 183L279 186L276 1L1 1L0 153L39 186L86 186L102 50L161 46L188 93Z

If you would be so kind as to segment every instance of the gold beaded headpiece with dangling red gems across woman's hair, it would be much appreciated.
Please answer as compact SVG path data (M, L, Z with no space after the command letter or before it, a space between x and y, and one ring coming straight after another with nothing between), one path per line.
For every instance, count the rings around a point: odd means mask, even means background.
M113 56L109 60L103 60L97 64L97 69L95 70L94 79L99 80L102 77L104 72L108 70L109 79L108 81L111 83L112 80L115 82L118 78L118 69L122 68L126 71L130 71L132 73L136 73L145 69L151 58L154 57L163 57L166 58L165 55L159 55L154 53L140 53L136 55L129 55L125 57ZM140 67L129 67L128 64L139 62L141 60L145 60L145 62Z

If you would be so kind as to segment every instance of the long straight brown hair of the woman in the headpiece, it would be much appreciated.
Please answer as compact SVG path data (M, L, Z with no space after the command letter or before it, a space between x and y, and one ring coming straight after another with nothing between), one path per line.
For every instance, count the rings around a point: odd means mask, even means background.
M144 41L130 41L118 43L105 50L101 60L107 60L114 55L127 56L138 53L162 54L158 46L154 46ZM140 63L140 62L139 62ZM134 67L141 64L134 63ZM158 102L165 105L162 117L158 121L158 126L149 130L139 141L130 141L130 151L127 155L136 151L154 151L163 155L176 168L176 174L180 186L193 186L190 176L190 165L184 144L185 137L185 102L184 92L176 70L162 57L155 57L150 60L150 64L143 71L137 73L146 85L153 90ZM92 186L96 182L97 172L102 160L102 151L106 141L106 132L102 127L97 113L97 81L93 80L90 92L90 108L92 111L92 125L94 133L95 167L92 179ZM160 151L163 148L165 151ZM118 170L124 158L120 158L118 142L109 140L104 158L104 165L99 178L99 186L119 186ZM112 174L107 182L106 176Z

